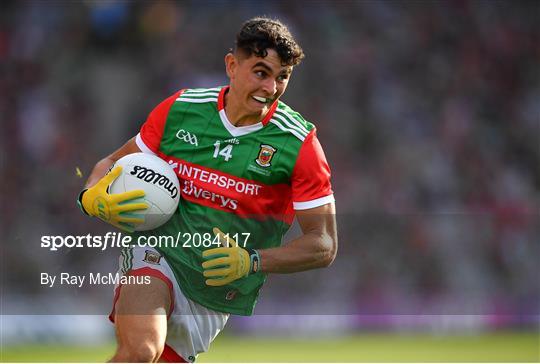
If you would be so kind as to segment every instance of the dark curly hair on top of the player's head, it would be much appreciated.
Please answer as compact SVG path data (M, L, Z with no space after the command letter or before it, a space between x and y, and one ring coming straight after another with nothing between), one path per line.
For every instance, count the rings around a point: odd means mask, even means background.
M264 58L268 48L277 52L283 66L296 66L304 58L304 51L279 20L256 17L246 21L236 35L235 50Z

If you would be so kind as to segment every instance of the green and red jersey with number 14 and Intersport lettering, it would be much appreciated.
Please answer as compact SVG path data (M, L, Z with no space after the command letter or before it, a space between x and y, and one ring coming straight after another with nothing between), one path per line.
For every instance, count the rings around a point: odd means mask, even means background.
M313 124L275 102L261 122L236 127L225 114L227 91L228 87L178 91L143 124L137 145L174 168L181 200L169 222L141 234L177 237L180 232L177 247L158 250L183 293L217 311L250 315L266 275L259 272L227 286L207 286L201 253L216 246L203 247L197 235L200 240L219 227L238 237L241 246L277 247L295 210L318 207L334 197ZM192 241L185 244L184 238Z

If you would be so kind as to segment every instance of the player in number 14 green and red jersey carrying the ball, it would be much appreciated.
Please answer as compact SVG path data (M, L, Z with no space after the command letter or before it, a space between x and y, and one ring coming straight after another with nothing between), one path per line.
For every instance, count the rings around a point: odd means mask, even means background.
M180 247L130 248L120 271L151 276L116 287L113 362L194 361L229 314L251 315L268 273L326 267L337 251L330 169L313 124L279 101L304 57L285 25L254 18L225 56L230 85L182 89L161 102L140 133L99 161L79 195L81 209L133 231L136 199L107 186L121 157L152 153L176 171L181 203L165 225L135 234L190 236ZM106 216L97 207L109 210ZM303 235L281 246L296 216ZM227 234L224 234L225 231ZM196 236L216 236L206 247ZM208 240L208 239L207 239Z

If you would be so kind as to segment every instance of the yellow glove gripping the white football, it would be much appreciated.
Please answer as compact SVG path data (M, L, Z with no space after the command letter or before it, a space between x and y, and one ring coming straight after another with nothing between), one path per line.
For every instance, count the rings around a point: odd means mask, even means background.
M144 217L131 212L145 210L148 208L148 204L145 202L127 203L130 200L144 197L143 190L109 194L107 191L109 185L120 173L122 173L122 167L117 166L93 187L83 190L79 195L78 204L87 215L96 216L119 229L133 232L135 228L133 224L143 223Z

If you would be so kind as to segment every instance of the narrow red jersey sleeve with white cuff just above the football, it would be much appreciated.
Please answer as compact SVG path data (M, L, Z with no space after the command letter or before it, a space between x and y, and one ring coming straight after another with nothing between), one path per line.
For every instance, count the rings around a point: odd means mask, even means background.
M163 137L163 131L165 130L165 123L167 122L169 110L183 91L184 90L175 92L150 112L148 118L141 127L141 131L135 138L135 142L142 152L157 154L159 145L161 144L161 138Z

